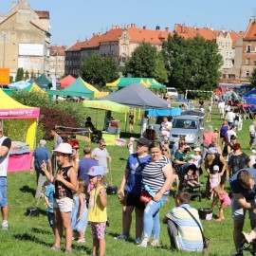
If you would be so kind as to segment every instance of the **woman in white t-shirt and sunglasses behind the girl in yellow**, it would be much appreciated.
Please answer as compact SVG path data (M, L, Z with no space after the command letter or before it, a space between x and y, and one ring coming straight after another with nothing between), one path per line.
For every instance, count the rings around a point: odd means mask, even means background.
M112 158L106 150L106 143L103 139L100 140L99 147L93 150L92 157L99 161L99 165L104 167L105 174L109 172L107 167L107 159L109 162L111 162Z

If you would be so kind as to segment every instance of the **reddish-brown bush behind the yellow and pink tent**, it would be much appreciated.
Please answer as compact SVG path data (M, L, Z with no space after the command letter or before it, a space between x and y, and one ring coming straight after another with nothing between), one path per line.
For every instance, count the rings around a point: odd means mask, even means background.
M56 125L65 127L78 127L77 119L74 119L71 115L66 114L64 111L56 108L42 107L39 123L44 126L45 139L52 139L50 134L51 129Z

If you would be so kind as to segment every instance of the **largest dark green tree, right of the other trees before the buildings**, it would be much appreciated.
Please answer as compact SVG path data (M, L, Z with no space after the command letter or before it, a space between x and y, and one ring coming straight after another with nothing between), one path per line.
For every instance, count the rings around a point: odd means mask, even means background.
M218 46L202 37L185 40L174 34L163 43L169 70L169 85L185 93L188 89L212 90L220 78L222 56Z

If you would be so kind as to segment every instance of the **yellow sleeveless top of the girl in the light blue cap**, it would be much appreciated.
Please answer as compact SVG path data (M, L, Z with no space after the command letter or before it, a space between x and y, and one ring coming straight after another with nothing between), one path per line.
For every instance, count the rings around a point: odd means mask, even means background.
M99 186L97 189L94 188L91 191L87 215L87 219L90 222L107 221L106 207L101 206L101 198L99 195L101 189L104 189L103 186Z

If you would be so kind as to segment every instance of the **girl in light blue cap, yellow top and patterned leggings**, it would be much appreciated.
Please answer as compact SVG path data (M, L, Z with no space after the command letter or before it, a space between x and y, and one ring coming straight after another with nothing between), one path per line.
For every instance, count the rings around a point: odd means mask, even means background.
M104 256L105 238L104 232L107 221L107 199L104 190L104 168L102 166L93 166L89 169L89 183L94 189L91 191L88 207L88 221L91 224L93 233L93 249L91 255ZM99 254L98 254L98 251Z

